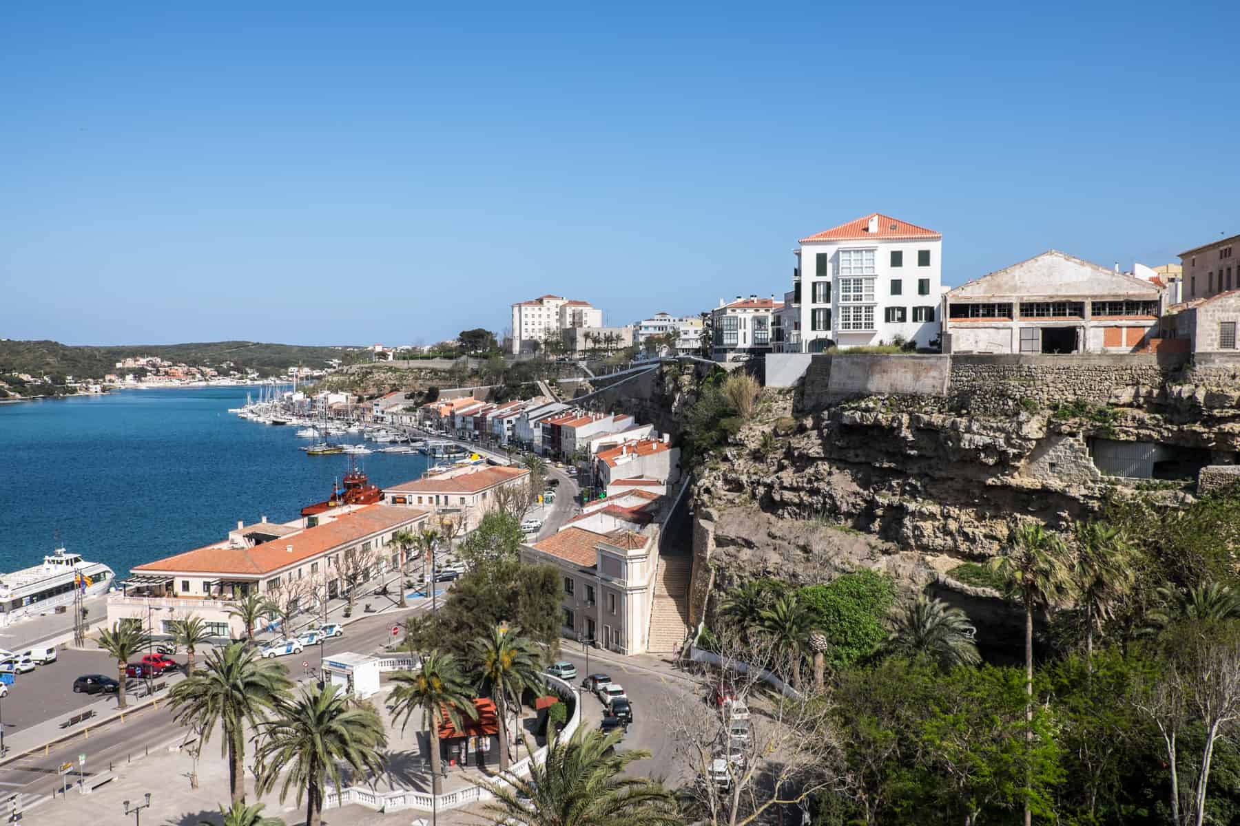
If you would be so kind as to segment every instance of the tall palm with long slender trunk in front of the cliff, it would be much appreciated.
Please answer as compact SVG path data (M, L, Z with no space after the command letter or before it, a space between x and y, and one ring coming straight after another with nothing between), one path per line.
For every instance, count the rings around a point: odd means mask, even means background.
M1049 608L1071 594L1066 557L1068 549L1059 536L1039 523L1025 521L1012 529L1007 554L991 560L1007 596L1024 606L1024 717L1029 742L1033 741L1033 609ZM1024 826L1032 822L1033 811L1025 802Z

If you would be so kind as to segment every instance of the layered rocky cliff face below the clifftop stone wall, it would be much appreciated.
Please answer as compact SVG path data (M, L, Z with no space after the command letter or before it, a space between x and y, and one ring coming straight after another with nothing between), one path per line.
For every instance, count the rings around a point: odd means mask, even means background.
M961 399L870 396L792 419L792 402L768 391L759 420L698 474L708 524L694 552L714 586L866 566L908 587L993 599L946 575L999 552L1014 516L1065 529L1109 497L1177 508L1195 495L1200 466L1235 464L1240 451L1240 388L1226 384L1133 386L1107 405L1056 410L1017 396L988 414ZM1095 462L1132 450L1162 457L1156 469L1176 478L1120 479ZM856 534L825 541L828 523ZM707 583L696 585L694 618Z

